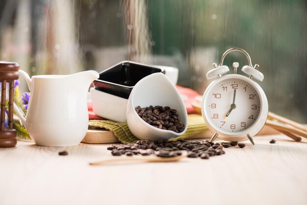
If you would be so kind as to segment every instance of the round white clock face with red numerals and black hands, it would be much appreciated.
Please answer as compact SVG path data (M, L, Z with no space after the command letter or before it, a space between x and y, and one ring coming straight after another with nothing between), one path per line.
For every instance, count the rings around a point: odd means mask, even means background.
M216 130L238 133L256 122L261 103L257 90L248 81L223 79L213 83L206 92L203 107L207 120Z

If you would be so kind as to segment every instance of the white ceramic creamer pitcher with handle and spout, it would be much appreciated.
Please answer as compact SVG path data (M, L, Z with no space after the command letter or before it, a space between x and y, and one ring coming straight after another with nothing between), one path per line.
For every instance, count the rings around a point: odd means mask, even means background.
M43 75L26 79L30 100L26 118L14 104L14 110L37 145L66 147L78 145L88 128L87 92L96 71L69 76Z

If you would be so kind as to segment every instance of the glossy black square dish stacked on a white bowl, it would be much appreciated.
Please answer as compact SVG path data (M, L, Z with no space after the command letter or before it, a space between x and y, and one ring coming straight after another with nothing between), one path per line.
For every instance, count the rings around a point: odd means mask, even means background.
M122 61L102 71L93 83L96 90L128 99L134 85L153 73L165 74L165 70L132 61Z

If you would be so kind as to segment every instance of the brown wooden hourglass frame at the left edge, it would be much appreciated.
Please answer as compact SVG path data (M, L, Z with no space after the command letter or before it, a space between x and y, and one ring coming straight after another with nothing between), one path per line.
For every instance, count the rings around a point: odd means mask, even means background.
M17 144L16 130L13 129L14 84L18 79L19 64L0 61L1 110L0 110L0 148L11 148ZM6 83L8 88L8 127L5 127Z

